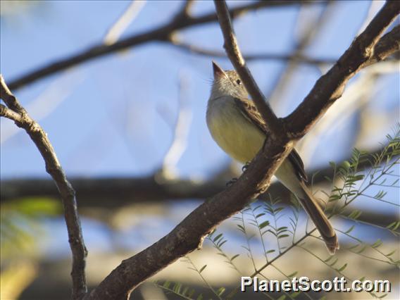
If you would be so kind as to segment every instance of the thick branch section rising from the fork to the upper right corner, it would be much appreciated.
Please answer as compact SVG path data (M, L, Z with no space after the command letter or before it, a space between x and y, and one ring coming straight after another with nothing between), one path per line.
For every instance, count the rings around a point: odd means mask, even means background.
M399 11L399 1L387 1L337 63L315 83L304 101L283 120L292 138L299 139L308 132L309 128L327 111L327 108L330 108L342 96L346 83L358 70L370 64L370 61L372 63L380 60L380 57L374 55L375 44L382 32L399 14ZM387 51L378 49L378 51L382 51L380 52L381 57L386 57L391 53L390 50L395 51L396 48L399 50L399 42L399 26L396 26L394 30L385 35L385 39L380 45ZM396 44L397 46L395 46Z

